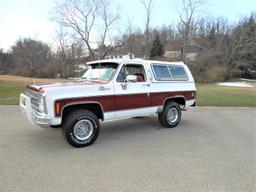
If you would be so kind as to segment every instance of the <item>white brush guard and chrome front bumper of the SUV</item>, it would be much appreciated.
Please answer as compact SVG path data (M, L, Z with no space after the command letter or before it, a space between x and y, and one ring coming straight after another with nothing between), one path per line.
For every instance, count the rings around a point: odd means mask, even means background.
M31 100L25 94L20 94L20 108L22 113L28 118L32 124L37 124L40 127L50 126L50 117L45 113L40 113L32 109Z

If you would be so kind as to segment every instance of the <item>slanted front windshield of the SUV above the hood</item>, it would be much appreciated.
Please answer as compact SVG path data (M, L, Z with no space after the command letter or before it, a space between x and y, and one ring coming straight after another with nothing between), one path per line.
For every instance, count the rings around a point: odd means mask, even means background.
M110 81L117 69L117 63L97 63L91 64L82 75L83 80Z

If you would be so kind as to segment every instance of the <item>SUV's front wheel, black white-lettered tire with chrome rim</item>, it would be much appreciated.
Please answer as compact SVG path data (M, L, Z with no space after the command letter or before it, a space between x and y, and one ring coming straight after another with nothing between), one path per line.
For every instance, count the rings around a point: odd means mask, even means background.
M71 112L62 125L64 137L74 147L91 145L97 139L99 131L99 119L88 110Z

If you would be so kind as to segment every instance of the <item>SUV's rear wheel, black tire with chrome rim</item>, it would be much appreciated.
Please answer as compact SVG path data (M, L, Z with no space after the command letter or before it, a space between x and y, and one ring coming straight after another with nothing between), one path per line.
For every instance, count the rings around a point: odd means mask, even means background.
M180 106L176 102L169 102L164 106L161 113L158 114L159 123L167 128L176 127L181 120Z

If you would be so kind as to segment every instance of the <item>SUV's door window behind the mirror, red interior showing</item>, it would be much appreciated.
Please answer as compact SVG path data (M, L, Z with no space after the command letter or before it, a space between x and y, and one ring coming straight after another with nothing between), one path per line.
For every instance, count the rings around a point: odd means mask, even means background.
M145 70L142 65L136 65L136 64L124 65L122 67L122 69L120 70L116 81L117 82L125 82L126 77L128 75L136 76L136 82L145 82L146 81Z

